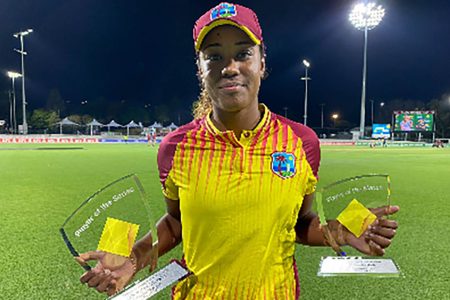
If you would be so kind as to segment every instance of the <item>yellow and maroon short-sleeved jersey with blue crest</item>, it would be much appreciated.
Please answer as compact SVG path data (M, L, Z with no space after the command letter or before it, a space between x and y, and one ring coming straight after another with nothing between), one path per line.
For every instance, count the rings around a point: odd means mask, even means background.
M240 139L209 117L170 133L158 166L163 193L179 200L183 251L193 275L175 299L294 299L294 226L315 190L319 141L271 113Z

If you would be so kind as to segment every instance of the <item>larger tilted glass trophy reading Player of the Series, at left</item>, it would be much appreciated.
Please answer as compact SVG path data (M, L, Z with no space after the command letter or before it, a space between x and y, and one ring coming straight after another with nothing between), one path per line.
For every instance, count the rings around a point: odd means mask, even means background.
M120 178L85 200L60 228L62 238L74 257L96 251L102 263L114 270L129 263L133 245L147 234L151 235L151 269L158 262L158 235L155 214L138 177L134 174ZM91 270L97 261L83 268ZM152 272L144 279L133 279L112 299L149 299L159 291L188 274L176 261Z

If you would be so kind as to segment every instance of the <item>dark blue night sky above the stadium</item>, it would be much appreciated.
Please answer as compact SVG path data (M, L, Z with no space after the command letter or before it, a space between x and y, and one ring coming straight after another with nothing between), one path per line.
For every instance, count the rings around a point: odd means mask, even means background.
M192 41L194 21L218 1L2 0L0 69L20 71L25 38L28 110L58 89L70 113L94 117L117 103L142 109L171 105L171 118L189 121L199 88ZM258 15L267 46L269 77L260 101L301 121L303 58L311 62L308 125L338 112L359 125L363 32L348 21L354 1L240 1ZM367 99L428 102L450 93L450 1L379 1L386 9L369 32ZM17 85L20 87L20 82ZM7 101L9 78L0 76ZM17 91L20 98L20 91ZM7 94L6 94L7 95ZM96 105L103 99L101 106ZM81 107L88 101L87 108ZM106 101L106 106L104 105ZM97 104L98 104L97 103ZM3 105L1 107L8 107ZM369 103L367 110L369 113ZM2 109L0 119L8 118ZM19 110L21 112L21 110ZM64 116L62 116L64 117ZM118 117L116 117L117 119ZM139 120L135 120L139 121Z

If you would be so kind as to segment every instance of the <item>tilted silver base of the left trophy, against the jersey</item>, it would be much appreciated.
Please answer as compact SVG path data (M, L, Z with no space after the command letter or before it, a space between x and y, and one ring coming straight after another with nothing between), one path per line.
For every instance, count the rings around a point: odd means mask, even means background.
M156 295L177 280L188 275L188 270L176 261L171 262L149 277L136 281L109 300L146 300Z

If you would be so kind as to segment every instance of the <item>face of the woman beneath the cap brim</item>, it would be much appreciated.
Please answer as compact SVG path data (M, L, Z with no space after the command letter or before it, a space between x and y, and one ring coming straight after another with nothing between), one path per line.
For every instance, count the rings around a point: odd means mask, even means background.
M265 61L259 46L239 28L211 30L202 43L198 67L216 109L237 112L257 103Z

